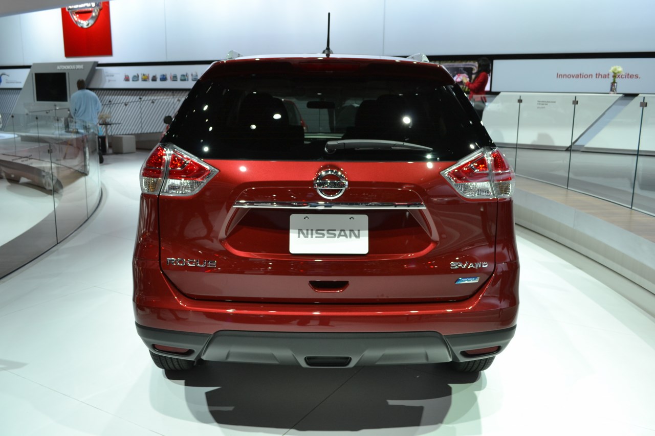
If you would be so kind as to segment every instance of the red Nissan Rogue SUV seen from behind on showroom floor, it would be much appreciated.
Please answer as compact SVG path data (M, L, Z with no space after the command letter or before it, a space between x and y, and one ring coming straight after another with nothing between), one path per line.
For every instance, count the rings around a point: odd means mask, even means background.
M215 62L141 169L138 334L166 370L481 371L515 331L513 187L443 67Z

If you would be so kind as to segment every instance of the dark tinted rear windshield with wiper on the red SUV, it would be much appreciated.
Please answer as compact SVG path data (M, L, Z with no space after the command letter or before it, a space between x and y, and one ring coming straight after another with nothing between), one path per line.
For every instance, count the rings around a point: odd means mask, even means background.
M468 107L466 107L468 106ZM458 160L486 134L457 86L403 75L257 72L196 82L164 137L200 158L238 160ZM474 124L477 124L475 126ZM368 139L430 147L354 147Z

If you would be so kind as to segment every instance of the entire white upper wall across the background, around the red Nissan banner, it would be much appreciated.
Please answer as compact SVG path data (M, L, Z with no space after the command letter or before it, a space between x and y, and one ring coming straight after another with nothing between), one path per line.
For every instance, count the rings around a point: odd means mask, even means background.
M100 63L242 54L648 52L652 0L112 0L113 56ZM62 62L59 9L0 18L0 65ZM70 60L70 59L69 59Z

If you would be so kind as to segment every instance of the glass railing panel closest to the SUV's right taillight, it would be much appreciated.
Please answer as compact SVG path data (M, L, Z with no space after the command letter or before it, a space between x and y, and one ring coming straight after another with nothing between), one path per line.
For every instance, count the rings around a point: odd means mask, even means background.
M573 94L521 94L518 175L566 187L573 126Z

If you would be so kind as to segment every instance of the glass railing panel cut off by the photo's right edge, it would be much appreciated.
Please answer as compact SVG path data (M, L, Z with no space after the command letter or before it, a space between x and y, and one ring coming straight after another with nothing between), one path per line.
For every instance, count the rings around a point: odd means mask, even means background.
M655 215L655 96L643 96L633 208Z

